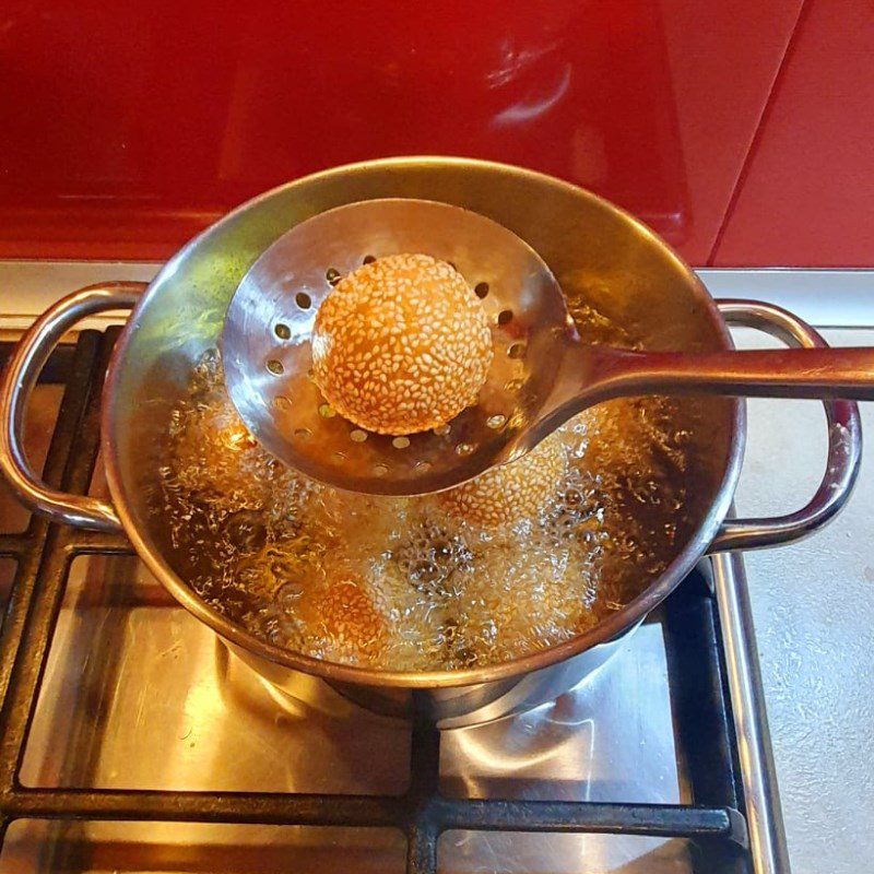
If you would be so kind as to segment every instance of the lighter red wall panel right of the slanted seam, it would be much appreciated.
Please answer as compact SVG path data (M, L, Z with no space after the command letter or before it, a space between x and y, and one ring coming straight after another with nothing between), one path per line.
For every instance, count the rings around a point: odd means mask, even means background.
M874 265L874 3L805 4L714 263Z

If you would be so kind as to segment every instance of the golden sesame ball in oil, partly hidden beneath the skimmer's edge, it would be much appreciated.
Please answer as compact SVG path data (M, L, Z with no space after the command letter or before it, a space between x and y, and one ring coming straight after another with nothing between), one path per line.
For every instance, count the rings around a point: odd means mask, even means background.
M519 460L442 492L439 500L452 516L495 530L536 516L558 491L566 465L565 448L554 434Z

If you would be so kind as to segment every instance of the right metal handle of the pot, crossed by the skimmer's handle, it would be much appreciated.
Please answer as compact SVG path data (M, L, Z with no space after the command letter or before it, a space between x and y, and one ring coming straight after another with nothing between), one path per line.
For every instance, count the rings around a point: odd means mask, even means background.
M788 346L826 346L826 341L805 321L781 307L758 300L717 300L729 324L755 328L782 340ZM826 473L810 503L788 516L770 519L727 519L708 553L777 546L812 534L830 521L847 503L862 459L862 424L852 401L823 401L828 422Z

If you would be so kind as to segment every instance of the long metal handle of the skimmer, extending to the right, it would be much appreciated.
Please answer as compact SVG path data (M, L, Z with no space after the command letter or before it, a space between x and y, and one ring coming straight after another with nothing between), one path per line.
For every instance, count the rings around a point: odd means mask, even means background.
M593 347L582 398L732 394L874 400L874 347L624 352Z

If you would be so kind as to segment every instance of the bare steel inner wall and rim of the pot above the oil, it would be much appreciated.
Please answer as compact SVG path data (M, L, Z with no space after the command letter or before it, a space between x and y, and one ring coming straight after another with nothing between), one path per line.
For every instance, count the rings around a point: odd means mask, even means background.
M187 588L164 517L155 511L161 449L174 406L187 397L197 363L218 345L231 297L263 249L327 209L403 197L457 204L505 225L546 261L571 309L593 308L647 349L700 351L730 344L694 274L639 223L580 189L495 164L401 158L330 170L263 194L193 240L152 284L113 364L104 420L113 495L138 551L186 606L236 643L283 662L288 658L296 666L292 657L271 652L241 628L229 627ZM670 572L641 584L638 601L649 595L648 609L658 600L654 590L664 597L692 567L724 513L736 474L737 410L737 402L724 399L685 399L677 406L674 427L694 434L696 444L687 471L695 488L686 495L688 521L677 531ZM639 615L640 610L617 615L611 634ZM307 670L332 669L312 662Z

